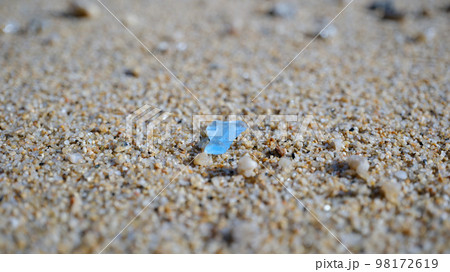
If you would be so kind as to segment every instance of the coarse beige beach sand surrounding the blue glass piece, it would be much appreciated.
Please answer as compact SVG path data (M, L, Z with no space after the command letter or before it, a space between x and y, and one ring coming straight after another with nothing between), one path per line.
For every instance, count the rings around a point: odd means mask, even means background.
M2 1L1 253L97 253L155 196L105 253L347 253L317 219L354 253L450 253L448 1L391 21L355 0L254 101L348 1L104 3L199 102L100 5ZM150 152L125 137L146 104L180 126ZM198 166L186 131L208 113L310 114L326 139L244 133Z

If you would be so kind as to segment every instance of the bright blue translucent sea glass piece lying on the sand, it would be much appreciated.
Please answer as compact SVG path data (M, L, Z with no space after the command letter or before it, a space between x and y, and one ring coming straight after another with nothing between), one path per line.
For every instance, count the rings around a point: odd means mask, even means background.
M242 121L213 121L206 128L209 143L205 147L205 153L220 155L230 148L234 139L247 129Z

